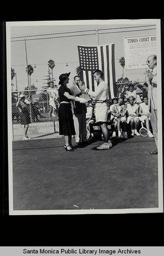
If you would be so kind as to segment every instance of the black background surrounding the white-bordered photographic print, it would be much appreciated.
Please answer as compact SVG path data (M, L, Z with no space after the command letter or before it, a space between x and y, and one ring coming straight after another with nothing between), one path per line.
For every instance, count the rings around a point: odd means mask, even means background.
M0 246L163 246L163 213L161 214L118 214L118 215L50 215L9 216L8 215L8 142L7 142L7 91L6 91L6 49L5 22L31 20L77 20L77 19L161 19L161 62L163 97L163 18L157 10L123 10L118 4L107 13L104 4L93 3L90 9L83 9L77 3L62 3L53 9L47 4L47 12L37 6L14 6L2 15L0 23L1 44L1 239ZM135 3L133 3L135 4ZM18 4L17 4L18 5ZM41 4L40 4L41 5ZM84 5L84 3L83 3ZM10 8L11 8L10 7ZM18 7L22 9L18 9ZM45 6L43 6L45 7ZM68 9L71 9L71 11ZM86 7L86 5L85 5ZM125 3L124 3L125 7ZM8 10L8 9L7 9ZM16 11L17 10L17 11ZM19 11L18 11L19 10ZM16 11L16 12L15 12ZM3 10L2 10L3 12ZM18 14L17 14L18 12ZM111 12L112 17L111 17ZM45 15L46 13L46 15ZM57 14L56 14L57 13ZM129 15L127 15L127 13ZM160 13L160 12L159 12ZM4 16L4 17L3 17ZM162 100L163 102L163 100ZM162 106L163 108L163 106ZM163 121L162 121L163 123Z

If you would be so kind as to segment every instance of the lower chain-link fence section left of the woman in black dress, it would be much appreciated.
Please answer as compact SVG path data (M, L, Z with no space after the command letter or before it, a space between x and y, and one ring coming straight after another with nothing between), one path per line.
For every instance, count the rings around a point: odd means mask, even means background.
M39 93L29 91L29 95L26 94L27 92L12 93L13 140L26 139L25 129L28 124L27 137L35 139L59 137L58 90L52 90L56 91L55 93L51 92L51 94L56 94L53 104L49 91L39 91Z

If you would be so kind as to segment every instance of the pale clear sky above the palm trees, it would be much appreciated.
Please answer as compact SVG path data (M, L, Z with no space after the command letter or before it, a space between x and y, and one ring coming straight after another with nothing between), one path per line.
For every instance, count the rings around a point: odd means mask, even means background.
M76 75L79 66L77 45L115 44L115 75L116 79L122 76L122 67L119 58L124 54L124 36L147 35L153 30L139 31L132 27L154 24L153 20L69 20L52 22L12 22L8 23L11 39L11 67L16 72L18 90L24 90L27 82L27 61L25 38L27 45L28 64L36 66L31 75L31 84L38 89L46 83L48 77L48 61L55 61L53 76L58 84L61 73L70 72L70 80ZM118 30L119 28L119 30ZM128 29L121 29L128 28ZM152 26L153 28L153 26ZM105 33L106 29L110 33ZM90 31L89 31L90 30ZM82 31L82 32L80 32ZM124 31L124 33L122 33ZM128 32L125 32L128 31ZM72 32L72 33L70 33ZM99 34L97 37L97 33ZM89 35L88 35L89 34ZM66 35L66 36L65 36ZM64 37L65 36L65 37ZM42 38L42 39L41 39ZM45 39L47 38L47 39ZM48 39L49 38L49 39ZM66 66L68 64L68 66ZM131 80L145 80L145 70L124 71L124 75Z

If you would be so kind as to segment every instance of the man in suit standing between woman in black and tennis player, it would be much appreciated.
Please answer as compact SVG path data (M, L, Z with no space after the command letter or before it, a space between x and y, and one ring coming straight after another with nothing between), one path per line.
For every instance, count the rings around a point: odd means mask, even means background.
M72 94L76 97L83 97L88 95L85 95L81 92L79 89L79 82L81 78L80 76L75 76L74 77L74 85L69 88L72 92ZM75 141L76 143L87 143L86 139L86 104L85 103L80 103L78 101L73 101L74 103L74 113L73 113L73 118L74 118L74 126L75 126Z

